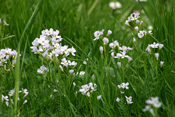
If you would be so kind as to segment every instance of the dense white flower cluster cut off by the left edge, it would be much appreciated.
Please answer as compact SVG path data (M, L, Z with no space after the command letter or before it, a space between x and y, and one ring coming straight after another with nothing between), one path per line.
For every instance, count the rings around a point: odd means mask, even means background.
M10 71L10 66L15 67L16 64L16 58L17 58L17 52L16 50L6 48L0 50L0 66L3 66L5 70ZM11 62L8 64L8 62ZM8 67L8 68L7 68Z

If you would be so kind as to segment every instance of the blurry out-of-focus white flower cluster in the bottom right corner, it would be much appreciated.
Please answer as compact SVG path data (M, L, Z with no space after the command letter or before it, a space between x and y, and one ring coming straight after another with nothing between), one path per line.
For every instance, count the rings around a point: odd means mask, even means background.
M161 105L162 105L162 103L159 102L159 98L158 97L151 97L151 99L146 100L146 103L148 105L145 106L143 111L144 112L149 111L153 115L154 115L154 108L160 108Z

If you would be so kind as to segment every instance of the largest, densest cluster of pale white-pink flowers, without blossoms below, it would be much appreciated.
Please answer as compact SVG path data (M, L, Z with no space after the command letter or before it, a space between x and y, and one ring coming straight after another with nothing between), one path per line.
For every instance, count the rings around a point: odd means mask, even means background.
M35 54L41 54L43 57L52 59L54 56L59 55L69 56L71 53L75 56L76 50L68 48L67 45L62 46L60 43L62 41L61 36L59 36L59 31L54 31L52 28L50 30L46 29L42 31L40 38L36 38L32 42L32 52Z

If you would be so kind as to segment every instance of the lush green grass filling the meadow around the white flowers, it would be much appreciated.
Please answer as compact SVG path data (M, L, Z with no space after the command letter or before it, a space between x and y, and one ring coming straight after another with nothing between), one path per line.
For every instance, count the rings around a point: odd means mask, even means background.
M138 3L135 0L120 0L122 13L115 14L107 0L0 0L0 18L10 25L0 27L0 49L12 48L20 52L16 67L6 72L0 67L0 95L7 95L15 88L15 104L9 107L0 101L0 116L152 116L143 112L145 100L158 96L162 107L156 116L175 116L175 5L174 0L148 0ZM153 26L153 35L147 36L135 45L132 42L132 29L124 22L134 10L143 10L141 20L147 29ZM77 50L78 62L75 72L85 71L83 77L73 76L59 69L59 62L51 62L31 52L30 47L44 29L58 29L63 37L63 45L73 46ZM96 30L112 30L110 42L118 40L122 45L133 47L129 54L133 61L122 61L117 67L117 60L110 56L110 48L100 54L100 41L93 41ZM145 52L148 44L160 42L159 67L154 55ZM87 61L87 65L83 61ZM60 58L59 58L60 59ZM41 65L50 72L38 74ZM95 78L92 78L92 75ZM73 86L73 82L76 86ZM81 85L93 82L97 84L90 98L79 91ZM132 96L133 104L125 104L117 85L129 82L125 95ZM26 88L28 102L17 101L18 92ZM58 92L53 92L57 89ZM50 95L52 94L52 98ZM101 100L97 96L102 95ZM0 96L1 97L1 96Z

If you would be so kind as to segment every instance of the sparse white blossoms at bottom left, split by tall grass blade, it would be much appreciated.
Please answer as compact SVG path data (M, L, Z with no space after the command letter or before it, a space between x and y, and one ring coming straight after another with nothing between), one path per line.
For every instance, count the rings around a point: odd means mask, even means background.
M27 89L23 89L23 88L22 88L22 90L19 91L19 93L22 93L24 95L23 98L25 98L29 94L28 90ZM6 106L9 106L9 101L12 104L14 104L13 97L12 97L14 94L15 94L15 89L12 89L12 90L10 90L8 96L2 95L2 102L5 101ZM18 98L18 101L19 100L20 100L20 98ZM25 103L27 103L26 99L24 100L23 104L25 104Z

